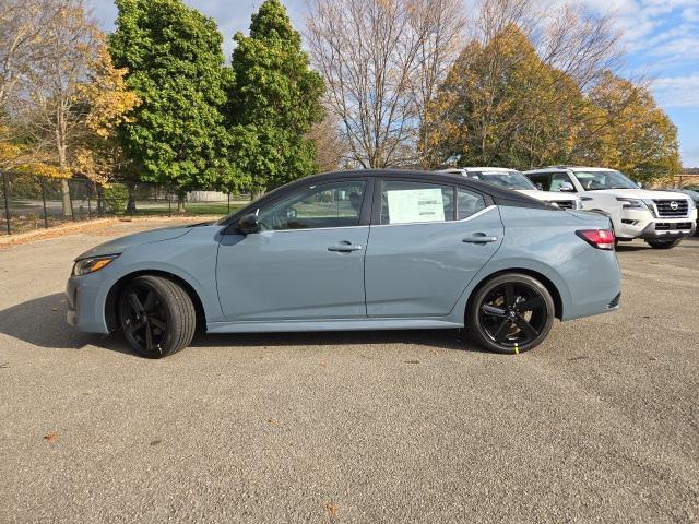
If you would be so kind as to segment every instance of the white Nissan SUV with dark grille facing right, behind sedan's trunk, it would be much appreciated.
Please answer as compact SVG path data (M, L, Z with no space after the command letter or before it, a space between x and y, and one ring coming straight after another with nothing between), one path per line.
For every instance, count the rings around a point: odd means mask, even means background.
M691 199L642 189L614 169L550 166L524 175L547 191L578 194L584 210L612 219L618 240L641 238L653 248L668 249L696 229L697 207Z

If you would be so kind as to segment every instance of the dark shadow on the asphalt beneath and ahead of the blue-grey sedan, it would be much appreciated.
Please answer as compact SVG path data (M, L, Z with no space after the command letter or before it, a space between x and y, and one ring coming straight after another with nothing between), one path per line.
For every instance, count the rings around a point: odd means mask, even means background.
M82 333L66 322L68 309L62 293L27 300L0 311L0 333L49 349L97 346L131 355L120 333ZM301 333L198 334L191 347L344 346L417 344L439 349L484 352L467 341L463 330L333 331Z

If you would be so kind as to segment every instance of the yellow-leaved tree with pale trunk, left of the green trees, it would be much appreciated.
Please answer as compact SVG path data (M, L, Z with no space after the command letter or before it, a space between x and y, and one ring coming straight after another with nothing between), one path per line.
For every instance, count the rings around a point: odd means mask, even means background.
M123 162L114 142L115 127L138 105L116 69L105 36L82 0L64 0L47 27L45 49L27 69L24 115L36 151L60 172L104 182ZM63 214L70 215L68 182L61 187Z

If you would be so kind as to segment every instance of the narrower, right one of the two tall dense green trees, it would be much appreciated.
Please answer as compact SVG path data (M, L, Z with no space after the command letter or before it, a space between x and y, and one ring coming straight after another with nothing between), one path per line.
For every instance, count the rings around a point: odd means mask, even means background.
M236 33L226 108L233 182L253 194L316 169L307 133L322 119L322 80L309 69L301 38L280 0L252 15L250 36Z

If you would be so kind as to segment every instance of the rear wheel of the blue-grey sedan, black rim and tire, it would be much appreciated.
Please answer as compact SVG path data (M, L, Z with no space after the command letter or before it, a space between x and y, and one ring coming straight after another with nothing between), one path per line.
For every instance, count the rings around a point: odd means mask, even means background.
M469 301L465 320L474 342L490 352L511 355L544 342L555 317L554 299L541 282L507 273L478 288Z

